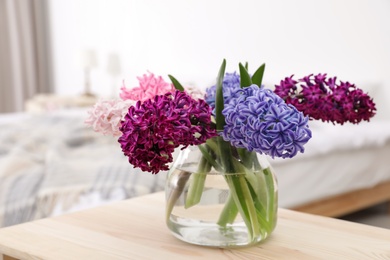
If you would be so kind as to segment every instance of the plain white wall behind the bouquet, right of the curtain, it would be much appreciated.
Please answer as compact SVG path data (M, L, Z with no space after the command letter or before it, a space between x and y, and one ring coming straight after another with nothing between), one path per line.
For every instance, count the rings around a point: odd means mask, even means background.
M123 79L134 86L147 70L205 88L226 58L229 71L239 61L253 69L265 62L271 88L291 74L338 76L375 96L378 117L390 115L387 0L53 0L50 10L59 94L83 91L75 57L91 48L99 95ZM121 59L116 78L107 73L110 53Z

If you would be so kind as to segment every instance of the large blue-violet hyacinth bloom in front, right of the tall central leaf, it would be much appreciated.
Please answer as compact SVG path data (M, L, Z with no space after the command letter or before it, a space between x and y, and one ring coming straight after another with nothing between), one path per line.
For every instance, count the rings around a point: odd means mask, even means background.
M232 92L234 98L225 102L222 111L224 140L271 157L292 158L304 151L303 145L311 138L308 117L257 85Z

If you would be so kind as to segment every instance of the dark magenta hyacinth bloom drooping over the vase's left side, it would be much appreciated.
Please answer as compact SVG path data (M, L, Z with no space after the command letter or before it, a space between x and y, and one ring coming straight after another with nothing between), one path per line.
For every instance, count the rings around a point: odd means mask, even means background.
M120 128L118 142L134 167L158 173L168 170L172 153L180 145L198 145L216 136L211 108L176 91L131 106Z

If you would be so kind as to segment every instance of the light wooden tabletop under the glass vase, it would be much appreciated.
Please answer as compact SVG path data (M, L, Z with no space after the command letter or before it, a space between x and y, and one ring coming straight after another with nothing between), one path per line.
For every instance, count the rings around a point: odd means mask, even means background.
M164 195L151 194L0 229L4 259L390 259L390 230L280 209L265 242L190 245L170 234Z

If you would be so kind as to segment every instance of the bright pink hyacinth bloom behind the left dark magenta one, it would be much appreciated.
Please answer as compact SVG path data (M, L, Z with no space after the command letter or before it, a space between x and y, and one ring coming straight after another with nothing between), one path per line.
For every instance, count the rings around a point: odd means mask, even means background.
M149 75L144 74L142 77L137 77L139 86L132 89L126 88L124 82L121 87L119 96L123 100L145 101L154 98L157 95L164 95L165 93L174 92L174 87L164 81L161 76L155 76L149 72Z

